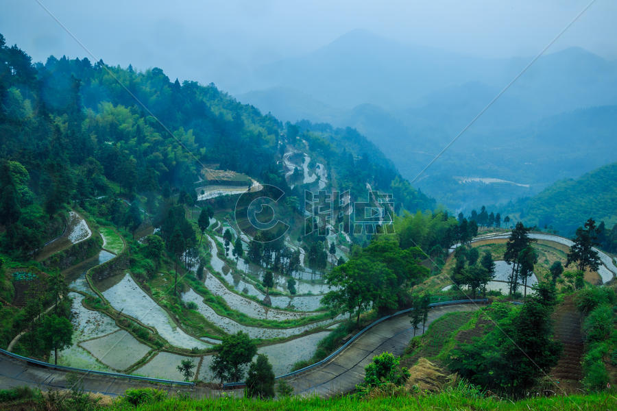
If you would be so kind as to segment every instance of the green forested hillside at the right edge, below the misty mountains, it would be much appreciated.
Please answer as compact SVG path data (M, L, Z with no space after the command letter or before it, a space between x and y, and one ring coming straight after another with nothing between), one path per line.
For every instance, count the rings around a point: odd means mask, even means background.
M560 234L572 234L581 221L592 217L610 229L617 223L617 163L564 179L530 199L513 206L528 225L551 227Z

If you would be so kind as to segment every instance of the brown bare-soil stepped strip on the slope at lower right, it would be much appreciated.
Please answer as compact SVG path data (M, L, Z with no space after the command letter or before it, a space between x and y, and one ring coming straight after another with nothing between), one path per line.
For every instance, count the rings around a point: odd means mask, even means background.
M559 382L559 386L568 393L579 391L583 371L581 357L583 355L583 336L581 334L581 314L574 305L572 295L566 297L563 303L555 308L555 339L564 345L559 362L551 371L551 377Z

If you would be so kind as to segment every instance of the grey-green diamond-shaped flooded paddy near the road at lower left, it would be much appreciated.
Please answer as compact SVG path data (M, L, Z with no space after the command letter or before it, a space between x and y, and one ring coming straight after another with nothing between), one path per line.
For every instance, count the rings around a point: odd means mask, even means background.
M147 345L140 343L124 329L84 341L80 346L103 364L118 371L128 369L150 351Z

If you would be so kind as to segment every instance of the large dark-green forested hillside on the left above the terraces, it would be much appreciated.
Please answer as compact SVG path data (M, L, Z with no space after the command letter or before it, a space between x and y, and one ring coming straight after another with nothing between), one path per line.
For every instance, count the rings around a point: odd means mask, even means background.
M156 212L166 191L195 201L204 164L301 199L302 184L289 186L282 164L294 147L324 162L328 188L349 189L352 199L365 198L368 183L394 190L408 210L435 206L354 130L286 126L213 84L180 84L158 68L141 73L87 58L32 64L1 36L0 70L0 224L5 249L23 256L53 236L58 224L50 221L65 203L119 192Z

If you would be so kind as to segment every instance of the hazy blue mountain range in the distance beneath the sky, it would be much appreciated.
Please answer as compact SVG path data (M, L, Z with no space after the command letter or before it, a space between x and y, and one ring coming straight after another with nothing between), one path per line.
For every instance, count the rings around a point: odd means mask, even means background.
M255 78L264 88L238 97L285 121L355 127L411 180L529 61L474 58L355 30L262 66ZM609 149L616 104L616 62L580 48L544 55L414 184L453 210L533 195L617 160ZM529 187L472 188L457 177Z

